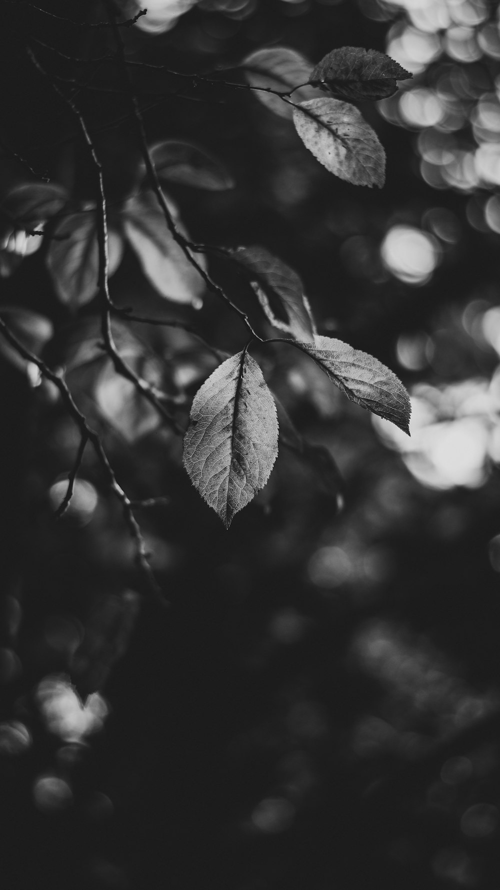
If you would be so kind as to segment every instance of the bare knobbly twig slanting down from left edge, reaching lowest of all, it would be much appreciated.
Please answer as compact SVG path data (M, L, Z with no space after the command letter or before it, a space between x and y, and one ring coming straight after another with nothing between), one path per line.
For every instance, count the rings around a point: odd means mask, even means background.
M127 497L125 491L119 485L117 481L117 477L113 471L112 466L109 464L108 456L102 446L101 439L99 434L90 426L87 422L87 419L84 414L78 409L71 392L69 391L68 384L66 384L64 378L61 374L56 373L56 371L52 371L45 362L38 358L34 352L30 352L26 346L20 343L17 337L12 334L10 328L7 327L4 320L0 318L0 334L4 336L4 339L9 343L13 348L22 356L23 359L33 362L36 365L36 368L39 369L41 374L47 379L50 380L54 386L60 392L61 400L69 413L69 417L73 420L73 422L77 425L78 430L82 438L86 438L91 442L93 449L95 451L96 457L101 464L102 469L108 479L109 487L113 491L113 494L117 498L117 500L122 505L125 522L128 525L130 533L135 540L137 554L136 554L136 562L146 578L148 582L149 589L151 592L157 597L158 601L163 605L168 605L165 597L161 591L157 583L157 579L155 578L151 566L149 565L149 554L148 548L146 546L146 542L142 537L141 527L135 516L133 514L133 506L130 498Z

